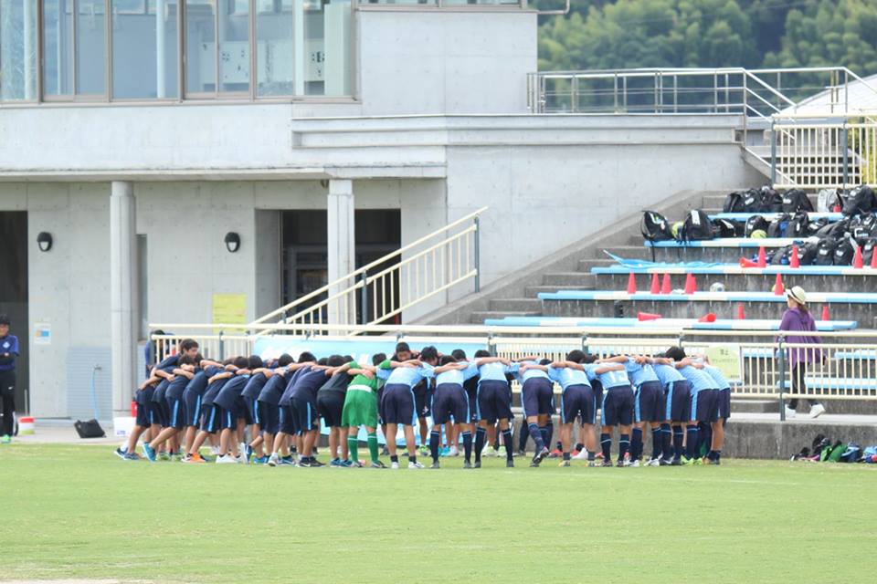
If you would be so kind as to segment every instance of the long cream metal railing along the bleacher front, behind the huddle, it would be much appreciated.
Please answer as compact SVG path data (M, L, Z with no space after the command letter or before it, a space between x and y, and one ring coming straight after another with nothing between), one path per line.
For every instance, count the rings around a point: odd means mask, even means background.
M777 331L702 330L690 328L577 328L488 327L421 325L186 325L153 324L152 328L182 331L155 335L156 360L174 352L181 339L201 343L201 352L222 360L248 355L256 349L259 332L269 330L272 340L355 341L357 335L385 335L388 347L406 340L412 347L436 343L481 345L491 354L510 359L539 355L562 360L572 349L598 357L615 354L660 355L671 346L682 346L690 355L721 355L740 399L776 400L780 405L794 398L819 400L877 400L877 331L820 332L818 344L789 343ZM243 328L255 328L246 333ZM216 334L221 328L224 333ZM227 333L227 334L225 334ZM371 337L375 339L375 337ZM797 351L808 356L805 370L796 368ZM351 351L354 352L354 351ZM322 357L322 355L319 355ZM800 383L803 381L803 384ZM806 390L804 387L806 386ZM514 391L518 391L516 386ZM556 391L556 388L555 388ZM780 408L780 414L783 409Z

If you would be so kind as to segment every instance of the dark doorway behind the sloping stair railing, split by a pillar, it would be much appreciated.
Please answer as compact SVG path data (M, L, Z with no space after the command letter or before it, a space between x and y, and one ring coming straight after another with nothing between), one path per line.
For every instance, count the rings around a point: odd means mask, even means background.
M281 300L284 305L329 283L326 221L325 211L281 212ZM354 222L356 267L365 266L401 246L402 218L398 209L360 209L355 212ZM322 299L314 298L299 309Z

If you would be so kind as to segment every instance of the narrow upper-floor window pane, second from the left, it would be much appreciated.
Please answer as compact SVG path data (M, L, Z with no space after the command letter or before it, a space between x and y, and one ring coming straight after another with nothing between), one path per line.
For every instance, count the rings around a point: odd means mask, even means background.
M43 93L73 94L73 0L43 2Z

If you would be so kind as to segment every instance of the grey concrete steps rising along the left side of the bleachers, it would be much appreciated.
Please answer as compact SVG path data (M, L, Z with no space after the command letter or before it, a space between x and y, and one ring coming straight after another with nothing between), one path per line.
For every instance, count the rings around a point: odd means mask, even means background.
M690 209L701 208L707 213L722 210L722 193L676 193L652 208L676 221ZM482 324L485 318L538 317L543 314L540 292L558 290L590 290L597 288L597 276L590 273L595 266L614 263L603 250L628 258L650 259L651 251L642 245L639 233L641 213L631 215L569 245L551 256L551 260L536 262L513 276L484 287L480 294L449 304L422 318L422 324Z

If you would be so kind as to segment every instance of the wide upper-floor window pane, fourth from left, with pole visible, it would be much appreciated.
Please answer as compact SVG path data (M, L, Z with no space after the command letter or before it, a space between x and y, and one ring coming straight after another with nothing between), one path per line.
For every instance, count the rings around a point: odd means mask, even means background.
M179 0L112 0L112 97L176 98Z

